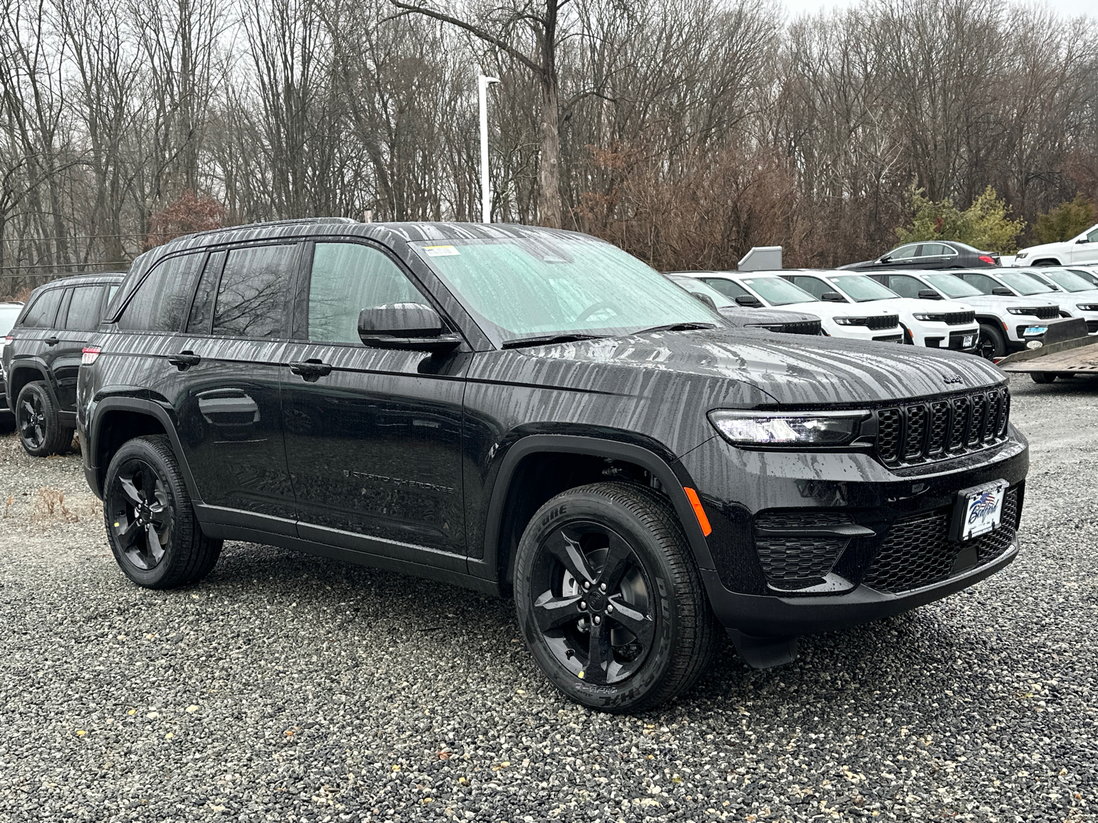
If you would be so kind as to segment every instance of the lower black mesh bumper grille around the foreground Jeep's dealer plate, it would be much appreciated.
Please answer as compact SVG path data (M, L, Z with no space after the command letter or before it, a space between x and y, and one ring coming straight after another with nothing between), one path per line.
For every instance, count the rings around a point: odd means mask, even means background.
M949 539L951 516L952 508L943 508L893 523L862 583L890 593L940 583L952 576L957 552L970 544L976 549L978 565L989 563L1007 550L1017 533L1018 489L1009 489L1002 500L999 528L971 543Z

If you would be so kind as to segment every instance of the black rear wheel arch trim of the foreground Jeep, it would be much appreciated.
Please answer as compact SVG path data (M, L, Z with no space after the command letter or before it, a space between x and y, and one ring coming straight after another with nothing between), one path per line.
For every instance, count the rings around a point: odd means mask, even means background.
M183 454L176 422L160 404L141 397L105 397L96 405L89 437L88 464L94 470L98 488L92 489L102 497L103 481L111 459L124 442L143 435L166 435L171 450L179 461L179 469L187 484L187 492L194 503L201 503L198 486Z

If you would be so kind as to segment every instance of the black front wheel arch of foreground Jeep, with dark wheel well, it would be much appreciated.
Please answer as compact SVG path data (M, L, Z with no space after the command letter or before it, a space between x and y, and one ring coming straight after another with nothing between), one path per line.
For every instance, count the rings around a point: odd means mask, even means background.
M573 482L554 482L551 473L547 478L542 471L553 462L578 460L583 466L574 476L582 478L582 482L574 482L574 478ZM597 472L593 472L595 466ZM630 473L638 470L643 476L630 476ZM528 476L537 476L540 483L533 494L526 495L524 481ZM604 438L527 435L501 458L488 507L483 557L470 561L470 572L497 580L501 591L506 591L513 579L518 538L534 512L548 499L568 488L615 476L638 482L654 480L656 483L650 485L666 495L674 507L698 567L714 567L708 542L684 491L684 487L693 487L693 481L674 459L669 461L642 446Z

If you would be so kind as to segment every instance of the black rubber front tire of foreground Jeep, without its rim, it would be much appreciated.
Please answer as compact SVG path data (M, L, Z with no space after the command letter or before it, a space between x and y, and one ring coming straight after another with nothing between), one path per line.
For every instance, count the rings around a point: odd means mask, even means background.
M530 580L539 546L568 523L579 521L605 523L625 537L657 588L652 647L636 673L616 684L596 686L564 668L534 617ZM553 685L576 702L614 713L653 709L693 687L721 636L671 503L630 483L581 486L538 509L518 545L515 607L527 649Z

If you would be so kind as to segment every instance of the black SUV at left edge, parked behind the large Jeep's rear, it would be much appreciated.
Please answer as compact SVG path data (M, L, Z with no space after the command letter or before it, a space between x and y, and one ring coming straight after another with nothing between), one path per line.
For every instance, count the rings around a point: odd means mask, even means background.
M27 454L58 454L72 443L81 351L123 277L78 274L40 285L8 332L4 388Z

